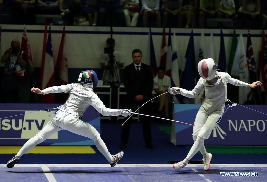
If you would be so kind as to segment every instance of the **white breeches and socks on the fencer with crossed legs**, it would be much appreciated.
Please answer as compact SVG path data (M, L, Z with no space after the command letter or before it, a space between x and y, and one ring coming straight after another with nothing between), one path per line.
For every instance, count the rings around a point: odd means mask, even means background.
M194 144L186 157L187 160L192 159L198 150L202 155L206 154L204 139L206 139L210 132L217 126L221 117L221 111L215 111L211 114L208 114L202 106L199 108L194 123L196 126L193 127L192 134Z

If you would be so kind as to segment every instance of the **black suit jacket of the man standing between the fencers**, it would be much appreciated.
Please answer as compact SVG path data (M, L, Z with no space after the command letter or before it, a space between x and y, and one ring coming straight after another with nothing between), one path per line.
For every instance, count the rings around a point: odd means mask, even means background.
M138 78L134 63L126 66L124 68L123 83L128 98L134 99L136 95L143 95L144 100L149 100L154 83L151 67L141 63L140 76Z

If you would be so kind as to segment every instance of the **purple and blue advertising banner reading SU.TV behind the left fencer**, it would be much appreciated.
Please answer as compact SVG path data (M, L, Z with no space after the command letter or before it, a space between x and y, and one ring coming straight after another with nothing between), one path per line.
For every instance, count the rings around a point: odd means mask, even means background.
M0 106L0 145L23 145L54 117L53 112L39 111L59 104L5 104ZM12 116L12 117L9 117ZM7 117L7 118L4 118ZM89 106L82 116L100 133L100 113ZM61 130L39 145L94 145L87 137Z

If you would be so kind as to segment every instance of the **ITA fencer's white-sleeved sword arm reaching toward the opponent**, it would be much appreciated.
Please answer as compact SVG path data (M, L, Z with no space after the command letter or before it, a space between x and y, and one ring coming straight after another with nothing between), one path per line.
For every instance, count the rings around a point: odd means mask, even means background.
M100 114L103 116L118 116L123 115L124 117L128 116L129 112L125 112L121 109L110 109L107 108L100 98L93 94L90 99L90 105L92 105Z

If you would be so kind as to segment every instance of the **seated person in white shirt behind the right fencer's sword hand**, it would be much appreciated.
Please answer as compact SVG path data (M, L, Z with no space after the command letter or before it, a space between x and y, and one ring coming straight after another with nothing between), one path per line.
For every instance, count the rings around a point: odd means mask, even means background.
M158 67L158 74L154 78L154 86L153 89L155 90L157 95L163 94L168 92L168 88L171 87L171 78L165 75L165 69L162 66ZM163 106L165 111L166 118L169 117L169 101L171 100L170 94L164 94L158 97L158 101L160 106L158 108L158 112L161 114Z

